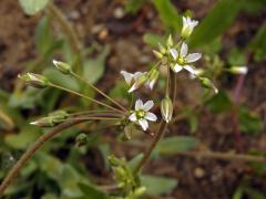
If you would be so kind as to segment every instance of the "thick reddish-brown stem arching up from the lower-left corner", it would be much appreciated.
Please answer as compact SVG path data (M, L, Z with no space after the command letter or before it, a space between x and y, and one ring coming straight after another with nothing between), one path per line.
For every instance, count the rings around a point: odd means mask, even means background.
M27 161L35 154L35 151L49 139L58 135L60 132L69 128L73 125L85 122L84 119L68 121L58 126L55 126L50 132L43 134L29 149L21 156L21 158L16 163L12 169L8 172L7 177L0 185L0 196L3 195L3 191L12 182L12 180L18 176L21 168L27 164Z

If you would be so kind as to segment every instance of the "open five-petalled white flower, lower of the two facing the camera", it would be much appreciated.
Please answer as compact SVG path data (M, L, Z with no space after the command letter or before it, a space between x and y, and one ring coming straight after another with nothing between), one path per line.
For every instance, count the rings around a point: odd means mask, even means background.
M141 100L135 103L135 111L130 115L129 119L132 122L137 122L143 130L149 127L147 121L155 122L157 119L156 115L149 112L153 107L153 101L147 101L145 104Z

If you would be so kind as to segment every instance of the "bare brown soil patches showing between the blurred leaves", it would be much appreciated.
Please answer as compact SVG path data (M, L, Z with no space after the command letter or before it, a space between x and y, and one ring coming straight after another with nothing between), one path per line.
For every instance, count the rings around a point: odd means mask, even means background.
M173 2L177 6L178 11L183 12L191 9L195 17L201 19L216 1L175 0ZM115 15L115 12L123 8L123 0L71 0L68 2L55 0L55 3L73 23L84 46L90 46L95 40L101 44L111 46L112 52L106 62L106 71L98 83L98 86L103 91L110 91L114 86L121 70L132 72L145 70L146 64L153 60L151 49L141 39L145 32L163 32L163 25L151 4L144 6L139 14L117 19L119 14ZM225 34L226 44L229 46L234 44L245 45L245 42L254 35L254 30L265 19L265 14L266 10L257 15L239 15L232 29ZM23 63L37 57L33 38L34 28L41 14L28 17L23 14L17 0L1 0L0 15L0 87L10 92L13 90L18 73L23 70ZM243 35L244 39L241 40L239 35ZM256 64L253 61L248 63L249 73L245 78L239 100L241 104L257 113L264 122L266 122L265 64L265 62ZM229 93L233 93L236 81L237 78L233 77L231 82L224 83ZM178 82L177 109L187 105L193 106L198 90L197 84L190 83L186 77L182 76ZM143 95L149 93L143 93ZM215 151L235 150L234 126L231 122L231 115L215 115L206 108L202 108L200 115L200 127L195 135L204 144L202 147ZM170 127L166 136L172 135L190 135L187 123L180 121ZM106 139L111 139L110 142L115 145L112 137L106 137ZM145 139L149 140L150 137L146 136ZM244 151L252 149L266 151L265 129L256 137L242 135L242 142L245 146ZM119 154L134 154L136 151L127 151L129 149L123 146L114 146L114 150ZM98 168L92 168L90 164L89 168L101 174ZM171 156L150 163L145 172L178 179L178 186L163 198L232 198L235 189L245 177L250 178L250 187L260 190L266 196L266 179L253 175L250 165L244 163Z

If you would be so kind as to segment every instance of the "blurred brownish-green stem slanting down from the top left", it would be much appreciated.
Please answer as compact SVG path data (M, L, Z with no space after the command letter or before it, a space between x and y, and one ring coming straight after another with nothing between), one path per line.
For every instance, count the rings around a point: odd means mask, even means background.
M62 11L58 9L54 4L50 3L48 6L49 13L58 21L58 24L61 27L61 30L66 34L70 41L70 45L72 48L73 53L76 56L76 72L79 74L82 74L82 45L76 36L76 33L74 32L72 25L68 21L68 19L64 17Z

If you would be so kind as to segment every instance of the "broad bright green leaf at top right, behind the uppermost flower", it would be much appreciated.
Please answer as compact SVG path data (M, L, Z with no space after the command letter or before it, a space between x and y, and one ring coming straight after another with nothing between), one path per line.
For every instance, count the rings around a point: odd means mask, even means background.
M219 0L213 10L200 22L191 35L190 46L196 48L211 43L223 34L235 20L242 2Z

